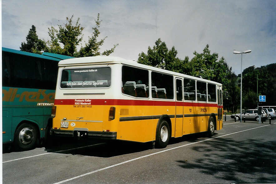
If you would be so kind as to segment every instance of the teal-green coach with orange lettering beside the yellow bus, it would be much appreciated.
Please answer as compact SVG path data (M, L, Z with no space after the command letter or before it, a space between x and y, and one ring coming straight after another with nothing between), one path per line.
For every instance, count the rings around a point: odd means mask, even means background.
M29 150L52 127L57 64L73 58L2 47L2 143Z

